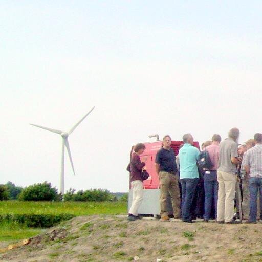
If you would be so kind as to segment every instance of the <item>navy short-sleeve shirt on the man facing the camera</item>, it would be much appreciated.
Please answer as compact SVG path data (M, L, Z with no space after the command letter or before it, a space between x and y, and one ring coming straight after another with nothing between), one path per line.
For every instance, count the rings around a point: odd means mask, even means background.
M176 156L172 148L167 150L162 147L157 152L156 163L160 165L160 171L169 173L177 172Z

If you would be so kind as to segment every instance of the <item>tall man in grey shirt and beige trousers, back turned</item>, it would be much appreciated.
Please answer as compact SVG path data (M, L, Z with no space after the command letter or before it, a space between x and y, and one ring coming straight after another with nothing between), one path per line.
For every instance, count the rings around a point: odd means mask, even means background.
M219 168L217 168L217 182L219 182L217 223L240 223L233 219L236 166L241 163L237 153L238 137L239 130L232 128L228 133L228 138L220 143Z

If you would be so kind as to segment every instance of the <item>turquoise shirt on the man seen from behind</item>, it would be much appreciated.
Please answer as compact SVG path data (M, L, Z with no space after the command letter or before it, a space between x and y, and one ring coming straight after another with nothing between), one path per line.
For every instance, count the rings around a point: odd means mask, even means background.
M199 178L197 161L199 149L188 143L179 150L180 179Z

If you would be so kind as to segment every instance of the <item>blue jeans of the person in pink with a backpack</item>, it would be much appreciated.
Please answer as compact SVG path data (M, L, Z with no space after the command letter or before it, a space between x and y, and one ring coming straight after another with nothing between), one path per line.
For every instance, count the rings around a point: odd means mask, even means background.
M215 218L217 210L217 192L219 190L219 183L217 180L213 181L204 181L205 186L205 214L204 219L210 219L210 213L212 208L212 202L214 200L214 209L215 209Z

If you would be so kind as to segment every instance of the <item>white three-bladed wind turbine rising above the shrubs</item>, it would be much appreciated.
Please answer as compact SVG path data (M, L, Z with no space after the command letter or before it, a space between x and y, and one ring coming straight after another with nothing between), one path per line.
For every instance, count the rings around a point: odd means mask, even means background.
M87 113L85 114L70 130L69 132L63 132L61 130L56 130L56 129L52 129L52 128L48 128L45 126L40 126L40 125L35 125L35 124L30 124L30 125L34 125L36 127L40 127L42 129L46 129L48 131L51 131L53 133L59 134L62 137L62 157L61 157L61 174L60 174L60 193L63 194L64 193L64 146L67 147L68 150L68 156L70 159L70 163L75 175L75 169L74 169L74 165L73 165L73 161L72 161L72 156L71 156L71 152L70 152L70 147L69 147L69 143L68 143L68 136L76 129L76 127L91 113L91 111L95 108L95 106Z

